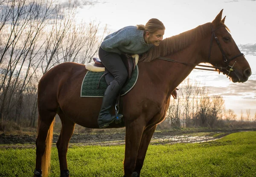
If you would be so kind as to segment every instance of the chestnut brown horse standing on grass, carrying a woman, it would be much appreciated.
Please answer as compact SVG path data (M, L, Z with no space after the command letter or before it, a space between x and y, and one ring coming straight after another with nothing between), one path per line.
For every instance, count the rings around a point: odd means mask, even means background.
M229 74L233 82L248 80L250 66L224 25L225 17L221 18L222 10L212 23L166 38L142 56L136 85L120 98L120 112L126 127L124 177L140 176L148 144L157 124L165 118L172 91L195 68L184 63L223 66L218 69ZM157 59L160 56L180 63ZM99 128L97 118L102 98L80 97L86 72L84 65L62 63L50 69L39 82L35 177L41 176L41 170L44 176L48 174L56 114L62 123L57 142L61 177L69 176L66 155L75 124ZM109 128L113 127L118 125Z

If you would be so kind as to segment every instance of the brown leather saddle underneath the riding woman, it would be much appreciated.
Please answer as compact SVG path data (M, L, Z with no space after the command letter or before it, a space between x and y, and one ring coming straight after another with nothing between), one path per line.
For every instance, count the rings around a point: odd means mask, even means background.
M131 57L128 54L121 54L120 56L122 58L123 63L125 64L125 68L126 68L127 73L128 73L128 78L126 80L126 82L127 82L128 80L130 80L131 75L134 72L134 69L135 69L135 66L136 66L135 60L134 60L133 57ZM93 61L94 61L94 66L105 67L99 58L93 58ZM106 79L108 84L110 84L111 81L114 79L113 75L106 68L105 68L105 79Z

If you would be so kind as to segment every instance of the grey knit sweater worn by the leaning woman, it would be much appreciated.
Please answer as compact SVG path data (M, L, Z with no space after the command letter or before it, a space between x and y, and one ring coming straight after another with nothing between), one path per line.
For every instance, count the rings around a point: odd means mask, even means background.
M118 54L143 54L153 46L145 43L143 34L144 31L138 30L136 26L126 26L105 37L101 48Z

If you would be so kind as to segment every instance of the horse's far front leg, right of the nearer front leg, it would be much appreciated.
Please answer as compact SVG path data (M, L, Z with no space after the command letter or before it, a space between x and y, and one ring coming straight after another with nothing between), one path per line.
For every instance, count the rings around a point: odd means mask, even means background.
M140 171L144 163L144 159L146 156L146 152L148 149L148 145L150 143L151 137L154 134L155 129L157 128L157 125L153 127L148 127L143 132L141 141L140 141L140 148L137 154L137 160L136 160L136 166L134 168L134 177L137 175L137 177L140 177Z

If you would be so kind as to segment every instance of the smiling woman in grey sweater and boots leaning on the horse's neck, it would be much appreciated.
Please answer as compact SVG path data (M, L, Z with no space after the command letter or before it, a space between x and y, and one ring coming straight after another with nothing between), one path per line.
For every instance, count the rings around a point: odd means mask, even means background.
M101 110L99 112L99 128L106 128L116 120L110 110L119 94L126 78L126 68L120 54L143 54L152 46L159 46L163 40L165 26L160 20L152 18L146 25L126 26L103 40L99 48L99 58L114 76L114 80L106 88ZM122 114L118 114L122 118Z

